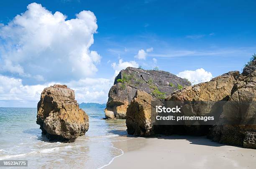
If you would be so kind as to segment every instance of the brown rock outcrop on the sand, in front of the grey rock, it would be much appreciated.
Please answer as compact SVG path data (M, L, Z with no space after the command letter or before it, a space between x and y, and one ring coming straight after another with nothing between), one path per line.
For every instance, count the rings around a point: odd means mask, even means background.
M152 125L149 115L151 105L147 99L143 99L144 97L142 94L136 94L127 109L126 125L129 134L207 135L215 142L256 149L256 125L246 124L247 121L256 124L256 60L246 66L241 74L238 71L228 72L210 82L184 87L166 98L170 101L230 101L229 104L223 105L219 118L228 118L225 109L233 109L234 111L229 111L232 112L231 116L236 117L239 122L244 122L244 125ZM247 103L246 111L241 111L239 102ZM209 111L204 113L210 112L211 106Z

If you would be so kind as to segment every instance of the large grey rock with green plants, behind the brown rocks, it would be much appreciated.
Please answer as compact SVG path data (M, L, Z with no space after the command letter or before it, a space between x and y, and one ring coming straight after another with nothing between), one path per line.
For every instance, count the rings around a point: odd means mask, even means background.
M164 99L178 88L190 85L189 81L169 72L127 67L115 77L114 85L108 93L105 117L125 119L127 107L137 90L143 90L154 98Z

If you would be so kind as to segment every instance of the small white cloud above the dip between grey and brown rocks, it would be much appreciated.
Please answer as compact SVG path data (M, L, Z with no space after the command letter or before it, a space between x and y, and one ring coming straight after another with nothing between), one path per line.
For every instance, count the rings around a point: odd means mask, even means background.
M186 78L192 83L192 85L201 82L207 82L212 79L212 73L205 71L203 68L197 69L195 71L185 70L183 72L179 72L177 76Z

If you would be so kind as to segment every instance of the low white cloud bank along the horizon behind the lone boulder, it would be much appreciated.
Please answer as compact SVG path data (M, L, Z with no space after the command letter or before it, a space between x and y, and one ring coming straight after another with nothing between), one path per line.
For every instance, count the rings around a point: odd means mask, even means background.
M112 81L104 78L84 78L66 85L75 91L76 100L81 102L105 103ZM43 85L23 85L21 79L0 75L0 106L36 107L44 88L59 82Z

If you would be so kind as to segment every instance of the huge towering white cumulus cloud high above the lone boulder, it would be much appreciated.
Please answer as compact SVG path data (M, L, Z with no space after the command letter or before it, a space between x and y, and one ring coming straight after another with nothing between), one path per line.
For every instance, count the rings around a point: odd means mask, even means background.
M101 58L89 49L96 30L93 12L67 20L61 12L31 3L8 25L0 25L0 71L46 82L93 75Z

